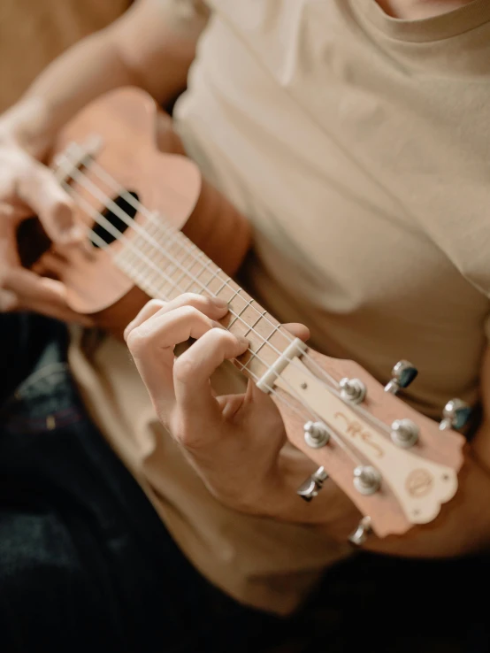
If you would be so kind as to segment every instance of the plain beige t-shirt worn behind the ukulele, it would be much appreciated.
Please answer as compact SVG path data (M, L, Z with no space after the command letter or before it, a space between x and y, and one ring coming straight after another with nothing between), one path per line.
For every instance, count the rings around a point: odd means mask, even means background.
M253 224L252 294L379 380L409 358L411 400L434 418L453 396L474 402L490 294L490 2L410 22L374 0L208 4L175 119ZM346 555L213 500L121 345L92 364L73 348L72 363L103 433L220 588L285 613Z

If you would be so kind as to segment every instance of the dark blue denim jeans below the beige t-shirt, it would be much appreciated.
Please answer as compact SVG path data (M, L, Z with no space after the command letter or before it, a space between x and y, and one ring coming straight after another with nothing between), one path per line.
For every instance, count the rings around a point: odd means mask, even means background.
M0 651L251 650L279 619L183 557L87 418L65 327L0 316Z

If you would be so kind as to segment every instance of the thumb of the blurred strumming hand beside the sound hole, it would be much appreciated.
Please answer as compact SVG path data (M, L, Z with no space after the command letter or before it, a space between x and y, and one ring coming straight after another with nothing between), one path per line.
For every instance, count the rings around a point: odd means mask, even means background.
M26 173L19 175L17 194L39 217L53 242L71 244L83 239L84 230L74 219L72 199L45 165L29 161Z

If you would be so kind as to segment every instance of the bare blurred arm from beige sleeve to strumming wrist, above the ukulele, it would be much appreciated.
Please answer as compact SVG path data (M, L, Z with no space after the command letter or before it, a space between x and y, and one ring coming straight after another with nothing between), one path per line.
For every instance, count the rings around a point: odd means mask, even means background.
M2 119L34 156L43 157L53 136L91 100L134 85L165 103L184 88L203 21L176 29L161 0L134 8L57 58Z

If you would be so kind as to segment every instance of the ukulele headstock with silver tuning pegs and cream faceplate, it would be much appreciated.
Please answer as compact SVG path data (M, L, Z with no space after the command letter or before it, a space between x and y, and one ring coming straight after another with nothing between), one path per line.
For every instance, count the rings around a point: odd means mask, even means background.
M465 442L456 429L470 407L452 399L440 424L425 417L397 396L416 377L400 361L383 386L356 363L307 350L275 382L288 439L318 465L298 494L311 501L331 478L364 515L354 544L431 522L456 494ZM302 425L299 407L310 413Z

